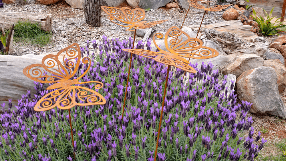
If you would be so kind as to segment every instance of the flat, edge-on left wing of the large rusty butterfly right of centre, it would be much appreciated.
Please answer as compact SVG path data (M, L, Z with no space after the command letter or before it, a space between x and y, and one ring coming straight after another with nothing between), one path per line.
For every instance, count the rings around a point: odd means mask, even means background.
M167 51L155 52L155 51L149 51L149 50L144 50L144 49L122 49L122 50L133 53L133 54L137 54L140 56L144 56L150 59L154 59L155 61L158 61L159 63L175 66L184 71L196 73L196 70L194 70L194 68L188 65L188 61L186 59L176 54L169 53Z

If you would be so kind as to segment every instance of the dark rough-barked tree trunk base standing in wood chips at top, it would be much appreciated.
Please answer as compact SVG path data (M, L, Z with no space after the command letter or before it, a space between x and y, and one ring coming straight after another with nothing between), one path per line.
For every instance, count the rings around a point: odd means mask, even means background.
M102 0L85 0L84 15L86 23L92 27L100 27L100 12Z

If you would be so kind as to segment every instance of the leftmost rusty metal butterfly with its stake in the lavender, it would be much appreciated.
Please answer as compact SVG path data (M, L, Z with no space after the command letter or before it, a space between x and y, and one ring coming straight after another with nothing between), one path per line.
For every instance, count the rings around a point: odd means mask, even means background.
M63 57L60 57L62 55ZM73 43L69 47L60 50L57 55L46 55L43 57L41 64L32 64L23 69L23 73L36 82L54 83L47 88L47 90L52 91L37 102L34 110L40 112L55 107L62 110L68 109L73 147L74 137L70 108L74 106L92 106L106 103L104 97L98 92L82 86L73 86L76 84L95 83L95 89L98 90L103 87L102 82L79 82L79 79L82 78L90 68L91 60L89 57L84 57L82 59L82 63L88 64L86 71L82 75L78 75L76 79L73 79L78 71L80 58L80 46L77 43ZM76 65L74 61L76 61Z

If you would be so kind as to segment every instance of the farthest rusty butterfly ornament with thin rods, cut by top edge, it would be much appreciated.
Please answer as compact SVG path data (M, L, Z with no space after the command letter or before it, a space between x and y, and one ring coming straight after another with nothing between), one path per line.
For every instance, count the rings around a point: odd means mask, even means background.
M211 1L205 1L205 2L211 2ZM223 9L225 9L225 8L227 8L227 7L231 6L231 5L233 5L233 4L230 4L230 5L215 5L215 6L212 6L212 7L210 7L210 8L206 8L206 7L204 7L203 5L198 4L198 3L195 2L194 0L188 0L188 3L189 3L189 5L190 5L190 7L194 7L194 8L196 8L196 9L203 9L203 10L204 10L204 15L206 14L206 11L217 12L217 11L221 11L221 10L223 10ZM190 9L190 7L189 7L189 9ZM189 11L189 9L188 9L188 11ZM187 17L187 15L188 15L188 11L187 11L186 17ZM202 16L202 21L204 20L204 15ZM185 19L186 19L186 17L185 17ZM184 21L183 21L183 24L184 24L184 22L185 22L185 19L184 19ZM200 27L201 27L201 25L202 25L202 21L201 21L201 23L200 23ZM182 24L182 27L183 27L183 24ZM182 27L181 27L181 29L182 29ZM200 27L199 27L199 29L198 29L198 33L200 32ZM196 35L196 38L198 38L198 33L197 33L197 35Z

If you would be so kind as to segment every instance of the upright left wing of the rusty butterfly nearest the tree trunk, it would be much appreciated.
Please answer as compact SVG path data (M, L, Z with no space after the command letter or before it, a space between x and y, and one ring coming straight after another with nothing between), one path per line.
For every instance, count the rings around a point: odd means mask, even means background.
M139 22L144 19L144 9L136 8L130 9L128 7L106 7L101 6L101 9L108 14L108 19L120 26L128 27L130 24Z

